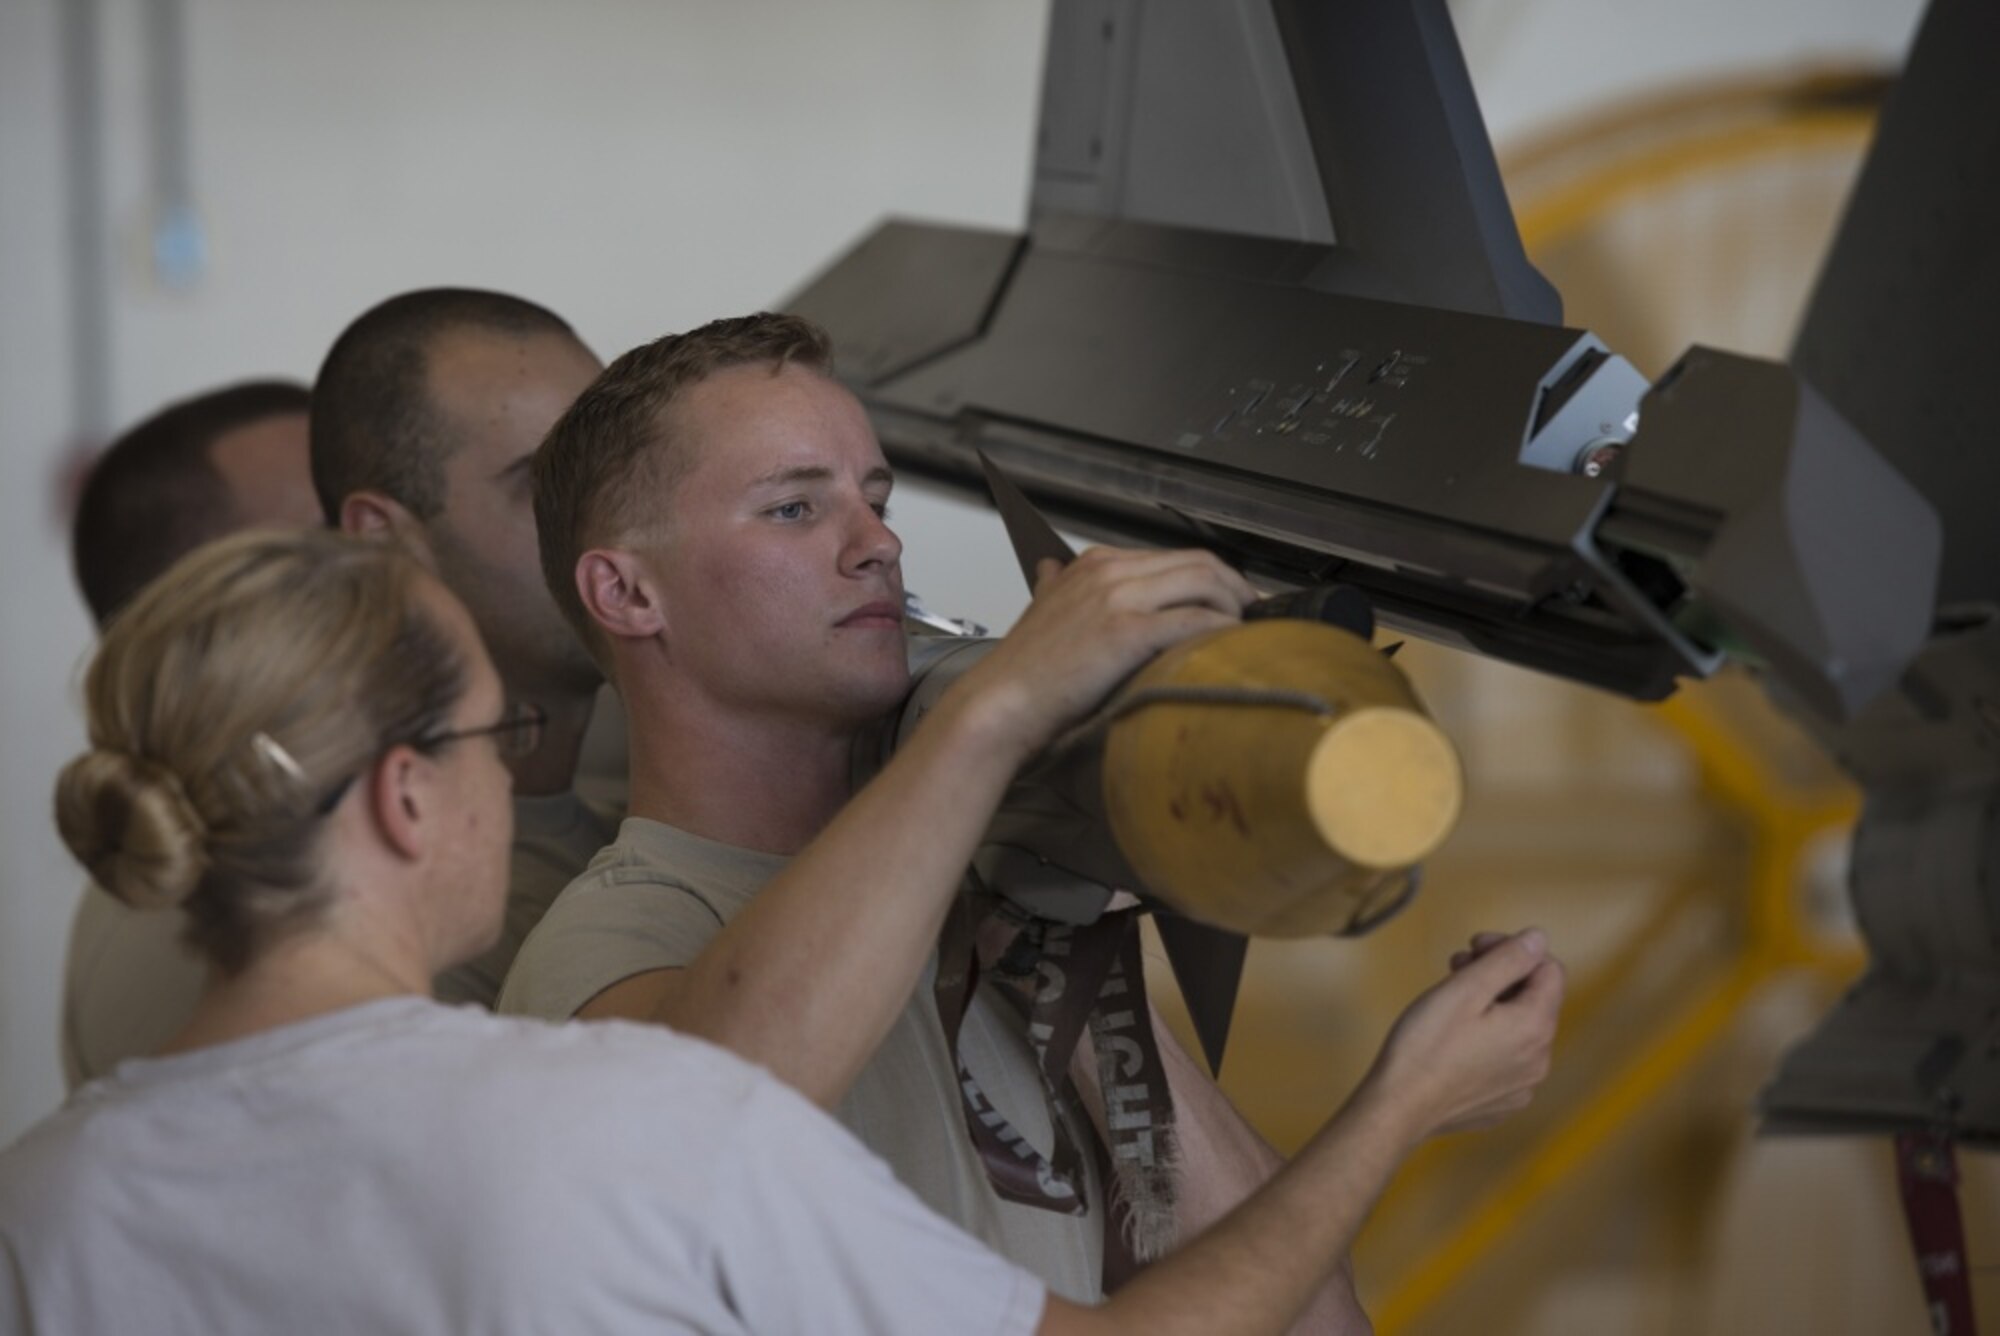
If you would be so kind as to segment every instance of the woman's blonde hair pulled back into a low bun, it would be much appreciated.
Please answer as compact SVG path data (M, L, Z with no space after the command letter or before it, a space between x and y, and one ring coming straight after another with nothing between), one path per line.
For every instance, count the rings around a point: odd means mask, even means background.
M184 904L224 976L320 920L334 786L390 742L436 740L470 688L422 580L330 534L226 540L178 566L90 666L92 750L56 784L70 852L134 908ZM532 748L534 720L494 736Z

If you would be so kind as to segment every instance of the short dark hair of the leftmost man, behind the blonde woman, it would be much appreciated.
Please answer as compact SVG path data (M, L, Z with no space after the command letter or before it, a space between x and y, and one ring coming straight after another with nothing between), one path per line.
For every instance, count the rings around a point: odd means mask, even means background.
M70 528L76 586L98 626L176 560L248 522L214 444L264 418L304 414L308 398L294 380L246 380L168 404L104 450Z

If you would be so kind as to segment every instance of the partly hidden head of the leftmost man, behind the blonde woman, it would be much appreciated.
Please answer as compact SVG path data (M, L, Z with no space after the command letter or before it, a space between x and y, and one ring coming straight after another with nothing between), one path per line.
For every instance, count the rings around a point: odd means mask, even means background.
M252 380L168 404L110 444L70 530L76 584L98 626L204 542L318 522L306 404L302 384Z

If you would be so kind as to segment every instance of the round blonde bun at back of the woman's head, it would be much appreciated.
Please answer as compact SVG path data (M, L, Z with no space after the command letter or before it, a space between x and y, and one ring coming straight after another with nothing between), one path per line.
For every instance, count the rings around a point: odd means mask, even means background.
M98 886L136 910L180 904L208 870L208 824L180 776L130 752L64 766L56 828Z

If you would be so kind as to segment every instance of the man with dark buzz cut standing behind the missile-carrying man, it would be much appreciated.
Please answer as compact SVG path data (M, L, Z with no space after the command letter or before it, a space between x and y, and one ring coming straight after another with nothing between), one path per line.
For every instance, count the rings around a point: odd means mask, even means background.
M536 752L510 762L506 926L490 952L438 978L446 1002L492 1006L522 938L610 840L622 806L622 794L576 792L604 676L542 582L528 486L542 436L598 370L544 306L424 288L356 318L312 392L312 484L326 520L416 552L472 612L508 698L546 718ZM610 732L622 738L616 722Z

